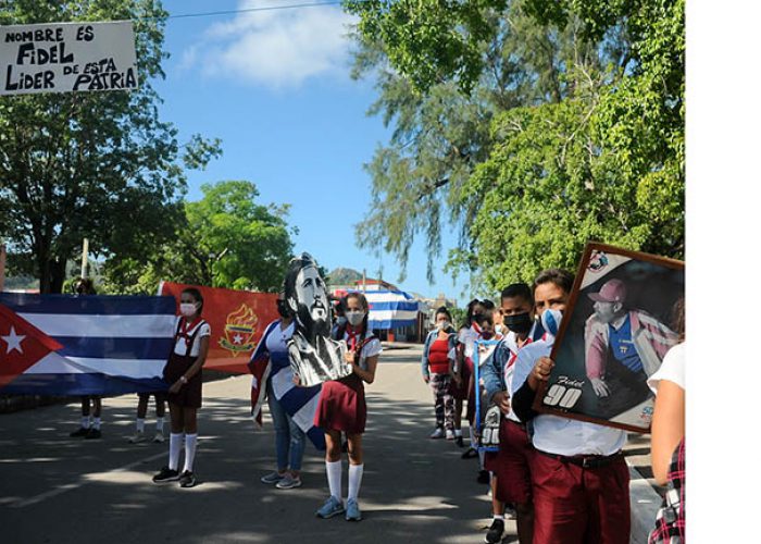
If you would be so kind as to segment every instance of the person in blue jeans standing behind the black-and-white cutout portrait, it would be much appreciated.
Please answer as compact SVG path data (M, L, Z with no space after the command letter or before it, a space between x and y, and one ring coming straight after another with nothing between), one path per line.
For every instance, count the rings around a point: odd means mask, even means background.
M260 346L270 357L271 371L266 381L267 405L275 426L277 470L262 477L262 483L275 484L279 490L301 486L301 460L304 453L304 432L283 406L283 395L292 387L294 373L288 360L288 339L294 335L294 314L280 293L277 297L280 319L270 323ZM257 349L259 351L260 349ZM254 353L254 357L262 354ZM280 399L278 399L278 393Z

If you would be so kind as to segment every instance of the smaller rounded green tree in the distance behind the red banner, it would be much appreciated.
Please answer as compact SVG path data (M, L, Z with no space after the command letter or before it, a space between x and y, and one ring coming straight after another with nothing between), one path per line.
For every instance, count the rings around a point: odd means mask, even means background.
M107 288L155 293L161 280L258 292L276 292L290 260L295 228L288 205L262 206L251 182L201 186L203 198L184 205L185 219L172 242L149 252L147 262L105 262Z

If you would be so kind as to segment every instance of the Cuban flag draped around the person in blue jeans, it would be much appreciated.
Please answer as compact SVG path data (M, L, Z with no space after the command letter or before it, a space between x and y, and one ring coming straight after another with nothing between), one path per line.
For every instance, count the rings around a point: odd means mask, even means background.
M299 425L309 440L320 450L325 449L325 433L314 426L314 415L320 403L322 385L313 387L297 387L294 384L294 372L287 353L271 354L266 348L266 337L278 327L280 321L270 323L264 331L262 341L251 356L248 364L253 374L251 380L251 417L262 426L262 404L266 397L266 383L272 379L272 390L275 398Z

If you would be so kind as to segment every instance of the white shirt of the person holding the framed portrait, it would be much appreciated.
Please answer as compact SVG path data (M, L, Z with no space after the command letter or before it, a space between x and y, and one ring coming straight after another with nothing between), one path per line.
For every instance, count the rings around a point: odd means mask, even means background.
M549 357L554 336L533 342L517 351L513 391L520 390L539 357ZM541 413L534 418L534 447L554 455L613 455L624 447L626 432L611 426Z

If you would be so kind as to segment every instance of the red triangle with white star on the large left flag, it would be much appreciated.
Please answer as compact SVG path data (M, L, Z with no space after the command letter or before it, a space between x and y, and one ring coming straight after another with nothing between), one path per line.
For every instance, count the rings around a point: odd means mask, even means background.
M0 305L0 387L62 347L16 312Z

